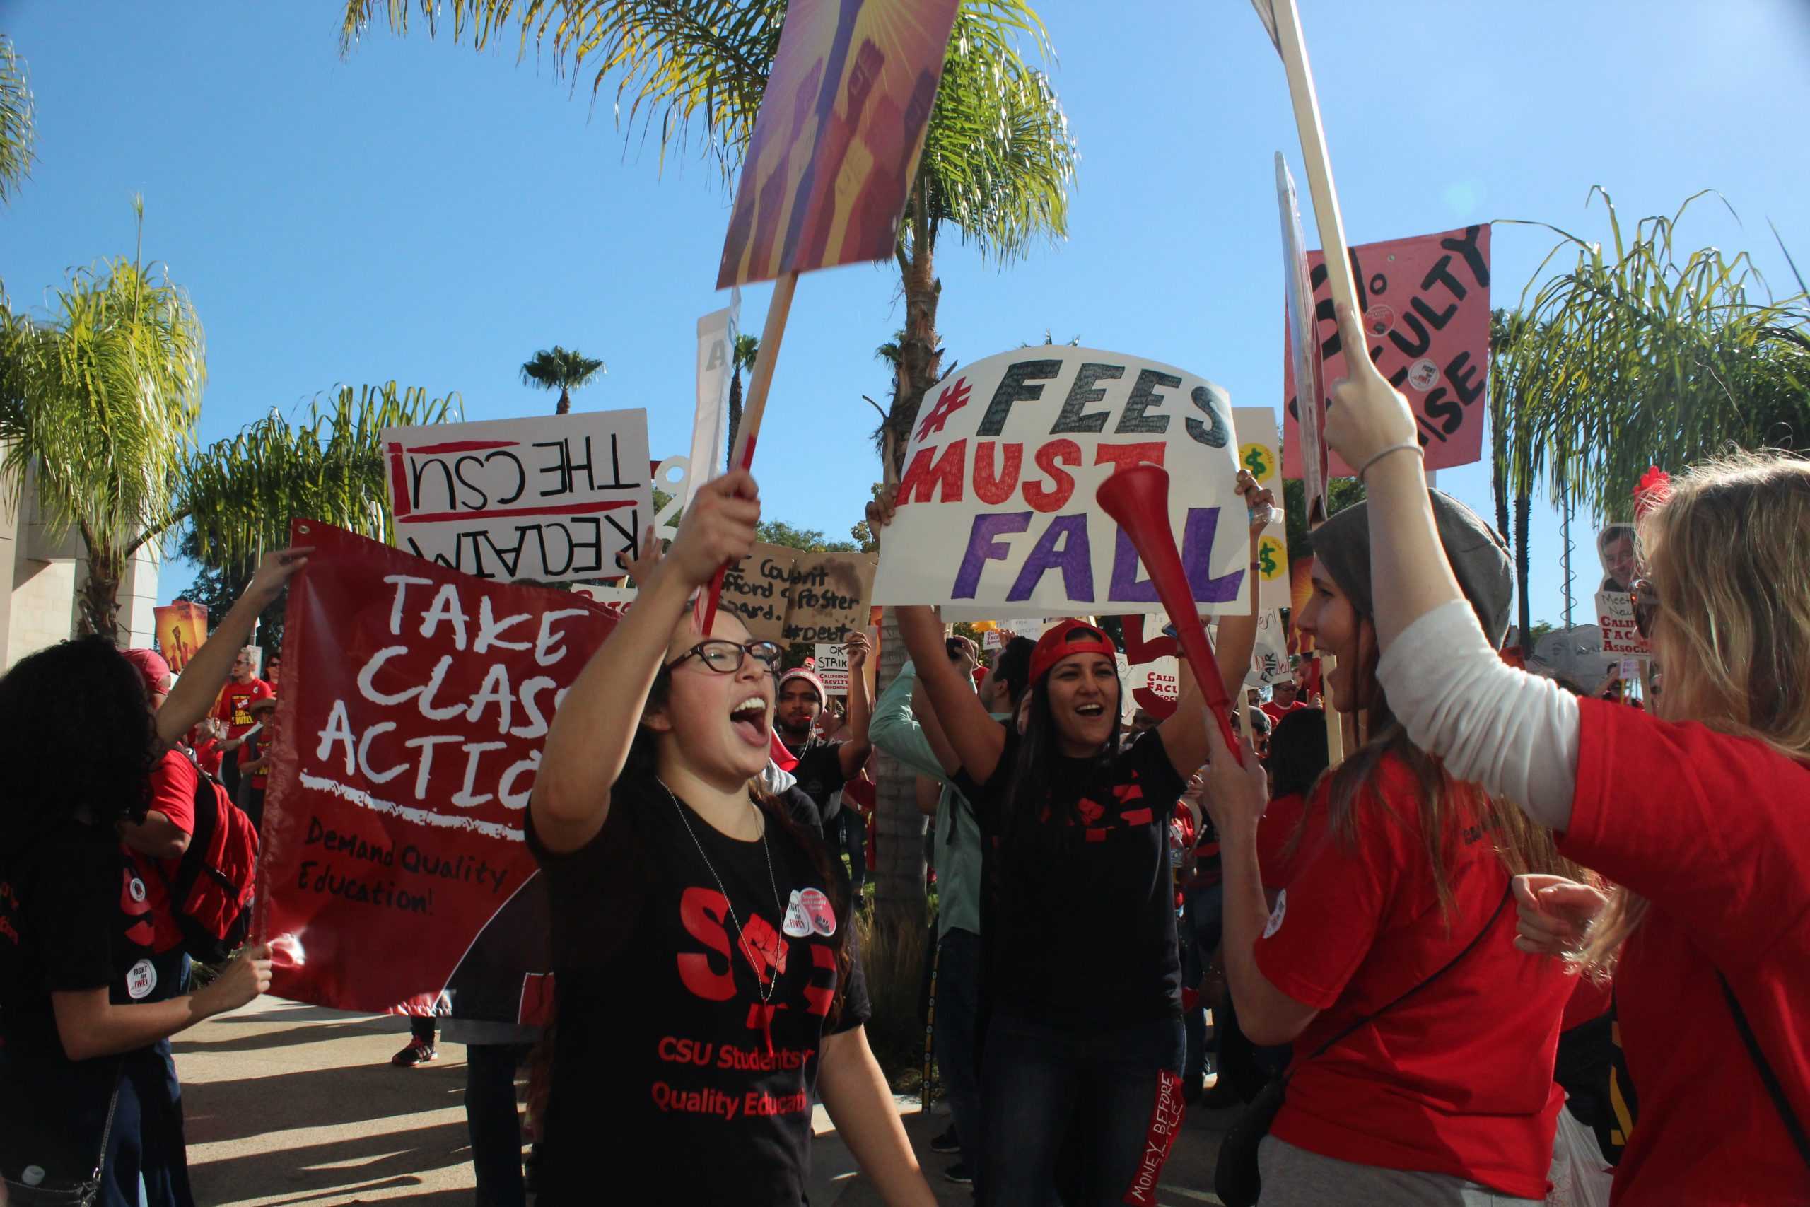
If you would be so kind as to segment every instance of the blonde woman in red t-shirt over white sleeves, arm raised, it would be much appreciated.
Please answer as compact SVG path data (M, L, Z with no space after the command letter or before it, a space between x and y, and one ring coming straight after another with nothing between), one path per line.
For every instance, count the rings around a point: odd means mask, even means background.
M1665 693L1615 708L1495 659L1434 537L1406 402L1365 362L1334 398L1327 436L1370 498L1379 673L1414 740L1618 885L1517 883L1517 946L1615 961L1640 1093L1616 1202L1805 1202L1810 465L1743 454L1647 494L1634 615Z

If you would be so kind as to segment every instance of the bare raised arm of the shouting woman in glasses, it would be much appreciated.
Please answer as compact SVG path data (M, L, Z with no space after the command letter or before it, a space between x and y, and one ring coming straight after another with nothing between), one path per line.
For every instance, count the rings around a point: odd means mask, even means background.
M686 601L717 566L753 550L757 523L760 492L748 470L735 470L699 489L664 557L653 561L652 548L643 550L639 565L650 568L635 604L592 655L547 729L529 809L548 851L577 851L603 829L610 787L628 762L641 709Z

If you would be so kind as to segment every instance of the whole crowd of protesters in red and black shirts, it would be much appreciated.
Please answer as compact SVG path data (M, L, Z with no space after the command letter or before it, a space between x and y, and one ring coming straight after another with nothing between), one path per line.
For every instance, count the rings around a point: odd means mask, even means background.
M1088 619L977 673L901 606L903 671L871 699L856 637L833 708L731 613L697 632L760 518L746 472L702 487L643 548L525 814L557 972L539 1202L657 1169L644 1202L802 1203L813 1102L885 1202L932 1202L865 1037L876 749L929 818L934 1147L977 1202L1151 1202L1187 1104L1242 1109L1227 1203L1810 1202L1810 465L1692 469L1613 534L1665 668L1636 709L1499 657L1506 548L1426 487L1386 380L1361 366L1329 414L1368 501L1312 534L1291 617L1325 677L1247 699L1254 603L1220 617L1238 751L1186 661L1173 711L1124 726ZM1271 499L1240 492L1254 543ZM0 679L0 1136L40 1174L98 1165L96 1202L194 1202L168 1039L268 986L244 923L279 668L246 642L306 554L268 557L179 679L100 639ZM746 959L675 959L704 932ZM738 1055L679 1068L672 1035ZM480 1203L523 1202L541 1037L462 1039ZM434 1057L418 1021L396 1062Z

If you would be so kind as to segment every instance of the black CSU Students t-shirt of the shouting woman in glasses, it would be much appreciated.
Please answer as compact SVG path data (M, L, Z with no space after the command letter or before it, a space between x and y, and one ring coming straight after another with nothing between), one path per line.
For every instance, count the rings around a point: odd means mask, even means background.
M816 809L796 789L782 802L793 827L767 818L766 843L737 841L659 782L619 782L597 836L563 856L529 816L557 993L543 1205L594 1203L599 1178L653 1187L639 1203L804 1203L816 1053L869 1006L847 885L805 849Z

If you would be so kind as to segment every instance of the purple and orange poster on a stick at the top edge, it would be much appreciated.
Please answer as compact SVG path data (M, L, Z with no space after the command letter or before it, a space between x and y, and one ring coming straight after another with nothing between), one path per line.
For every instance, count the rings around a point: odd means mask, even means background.
M791 0L717 288L889 261L957 0Z

